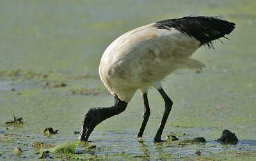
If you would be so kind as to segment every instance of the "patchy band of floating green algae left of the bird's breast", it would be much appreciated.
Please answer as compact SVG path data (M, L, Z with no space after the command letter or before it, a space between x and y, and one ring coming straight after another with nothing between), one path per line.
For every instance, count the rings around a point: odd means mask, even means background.
M109 94L106 88L90 87L90 82L95 80L90 75L77 75L77 76L63 76L57 71L49 71L47 73L33 73L22 69L0 71L0 78L2 80L10 81L13 87L10 91L22 94L23 90L28 90L23 86L31 88L38 88L38 90L49 90L54 88L62 88L67 94L72 95L102 95ZM98 79L98 78L97 78ZM67 83L68 81L68 83ZM71 82L70 82L71 81ZM1 80L0 80L1 83ZM77 84L83 86L77 87Z

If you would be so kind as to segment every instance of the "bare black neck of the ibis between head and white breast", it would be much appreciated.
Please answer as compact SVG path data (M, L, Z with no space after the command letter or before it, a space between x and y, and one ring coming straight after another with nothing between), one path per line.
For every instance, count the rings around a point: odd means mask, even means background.
M121 101L116 95L114 97L115 104L113 106L108 108L100 108L102 121L125 111L128 103L125 101Z

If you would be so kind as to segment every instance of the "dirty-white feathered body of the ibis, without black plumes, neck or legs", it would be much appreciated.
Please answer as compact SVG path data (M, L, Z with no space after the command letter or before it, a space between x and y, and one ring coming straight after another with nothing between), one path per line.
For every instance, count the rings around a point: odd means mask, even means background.
M111 94L131 101L136 90L161 88L160 81L176 69L202 69L204 64L191 55L200 41L177 29L157 29L156 23L126 32L102 55L100 78Z

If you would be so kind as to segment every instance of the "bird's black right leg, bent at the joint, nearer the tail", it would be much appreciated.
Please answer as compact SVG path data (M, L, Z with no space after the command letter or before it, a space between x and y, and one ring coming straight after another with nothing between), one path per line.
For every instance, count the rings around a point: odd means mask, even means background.
M172 109L172 100L170 99L170 97L168 97L168 95L164 92L163 88L158 89L159 93L162 95L164 102L165 102L165 110L164 110L164 115L163 118L161 120L161 123L159 125L159 128L157 130L156 136L154 138L154 143L159 143L159 142L163 142L163 140L161 140L161 135L163 133L163 129L164 129L164 125L167 121L167 118L170 114L170 111Z

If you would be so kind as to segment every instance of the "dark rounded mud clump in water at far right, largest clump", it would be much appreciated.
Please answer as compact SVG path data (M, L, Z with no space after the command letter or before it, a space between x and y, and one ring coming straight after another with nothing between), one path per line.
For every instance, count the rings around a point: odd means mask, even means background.
M217 141L224 143L224 144L237 144L238 139L236 137L236 134L233 132L230 132L230 130L223 130L221 136Z

